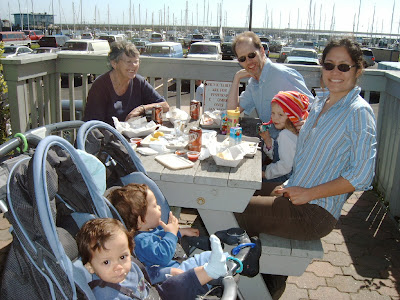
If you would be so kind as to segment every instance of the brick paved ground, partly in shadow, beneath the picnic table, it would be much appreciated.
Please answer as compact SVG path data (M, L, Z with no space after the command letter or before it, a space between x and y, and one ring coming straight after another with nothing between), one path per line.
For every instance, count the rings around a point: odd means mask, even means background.
M192 222L190 215L183 215ZM183 220L185 221L185 220ZM185 222L183 222L185 223ZM11 242L0 215L0 268ZM324 257L299 277L289 277L280 299L400 300L400 234L373 191L354 193L323 238Z

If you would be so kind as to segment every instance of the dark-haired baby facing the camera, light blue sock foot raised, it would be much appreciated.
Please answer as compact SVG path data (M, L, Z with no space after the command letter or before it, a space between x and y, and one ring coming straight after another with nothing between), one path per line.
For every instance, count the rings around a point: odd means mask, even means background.
M139 266L131 260L132 234L116 219L87 221L77 235L82 263L93 274L89 283L96 299L147 299L149 287ZM161 299L195 299L204 286L227 273L219 239L210 237L212 254L205 266L168 278L157 285Z

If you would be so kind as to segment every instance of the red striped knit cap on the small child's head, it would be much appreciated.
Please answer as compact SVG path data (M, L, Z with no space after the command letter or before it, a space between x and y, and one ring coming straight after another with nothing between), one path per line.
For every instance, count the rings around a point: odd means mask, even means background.
M295 124L308 117L308 97L295 91L279 92L274 96L272 103L279 104L282 107L289 120Z

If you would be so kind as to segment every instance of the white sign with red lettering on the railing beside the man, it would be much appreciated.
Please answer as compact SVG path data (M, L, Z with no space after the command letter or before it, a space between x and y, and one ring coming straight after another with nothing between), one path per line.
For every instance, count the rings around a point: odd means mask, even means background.
M232 82L206 81L204 83L204 111L226 110L226 100Z

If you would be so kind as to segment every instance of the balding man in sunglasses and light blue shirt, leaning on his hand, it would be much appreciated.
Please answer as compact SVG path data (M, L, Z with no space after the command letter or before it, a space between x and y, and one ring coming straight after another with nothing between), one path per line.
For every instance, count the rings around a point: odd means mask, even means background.
M240 112L246 114L256 109L258 117L268 122L271 119L271 100L280 91L298 91L307 95L310 102L314 99L299 72L272 63L265 56L261 40L254 32L247 31L236 36L232 49L243 69L233 78L227 109L239 107ZM240 80L248 77L246 90L239 97ZM296 124L296 127L301 125Z

